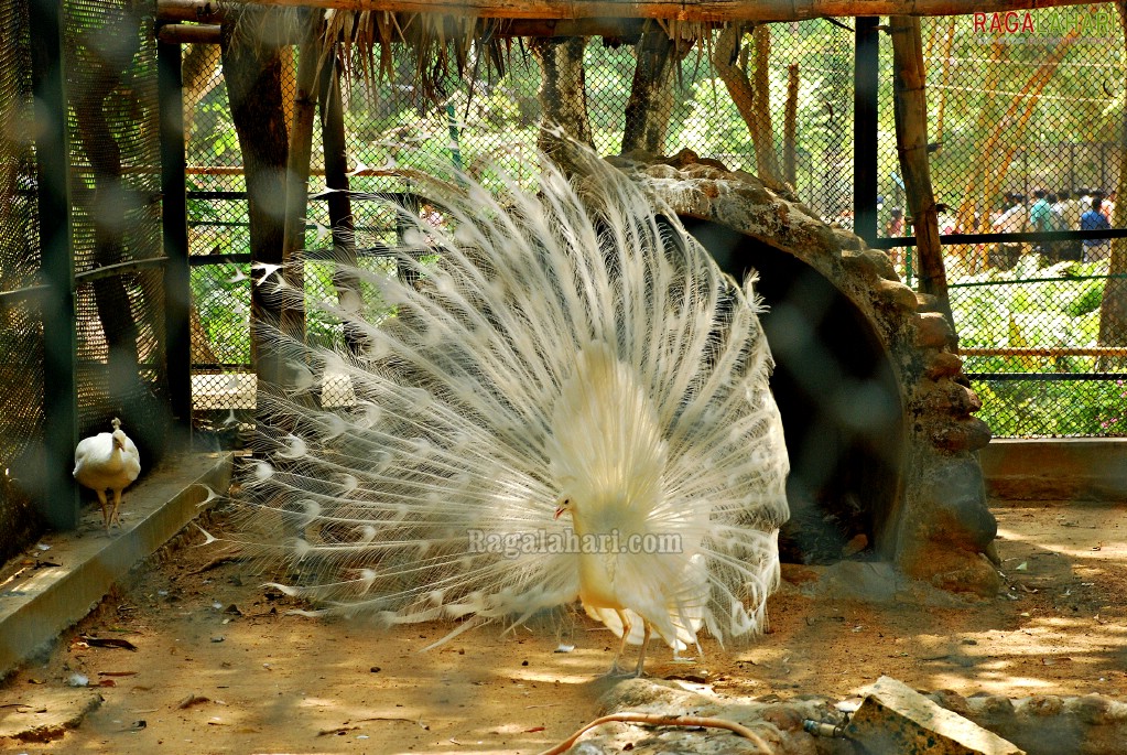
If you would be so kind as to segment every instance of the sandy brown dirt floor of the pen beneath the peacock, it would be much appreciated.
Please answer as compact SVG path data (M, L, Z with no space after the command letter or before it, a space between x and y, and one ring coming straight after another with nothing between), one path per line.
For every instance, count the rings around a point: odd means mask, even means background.
M751 648L706 643L703 660L674 665L655 643L647 670L721 698L844 699L881 674L964 695L1127 696L1127 505L994 510L1006 579L996 599L880 606L784 586L770 604L771 633ZM34 718L45 695L103 701L51 741L0 739L0 750L535 753L595 718L613 683L600 678L615 645L601 625L580 623L571 652L554 652L551 632L495 628L420 652L449 627L388 633L290 615L290 598L203 540L184 535L48 658L9 676L0 718ZM95 690L70 686L76 674Z

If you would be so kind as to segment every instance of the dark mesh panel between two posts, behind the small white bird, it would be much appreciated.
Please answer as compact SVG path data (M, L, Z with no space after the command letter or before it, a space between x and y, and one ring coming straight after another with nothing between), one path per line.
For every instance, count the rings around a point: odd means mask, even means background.
M114 417L151 467L168 436L153 8L64 6L79 435Z

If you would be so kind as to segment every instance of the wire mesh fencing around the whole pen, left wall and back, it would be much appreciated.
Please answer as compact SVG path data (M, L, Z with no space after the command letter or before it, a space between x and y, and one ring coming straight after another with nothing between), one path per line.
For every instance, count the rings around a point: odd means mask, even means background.
M45 418L53 410L43 389L51 385L44 300L35 295L45 285L36 160L53 156L21 136L35 131L28 9L27 0L0 0L0 21L12 30L0 38L0 379L8 391L0 412L0 517L14 517L0 518L0 554L5 543L42 525L18 513L29 506L20 483L44 474ZM62 18L74 424L87 435L127 411L123 419L144 436L137 439L149 446L150 461L159 458L168 426L153 12L144 3L68 0ZM814 19L746 35L717 32L692 47L666 45L664 53L647 46L653 29L640 39L586 39L579 45L585 127L603 153L689 149L730 169L772 171L827 222L852 228L862 207L876 217L875 230L857 230L888 249L914 283L890 43L872 32L875 62L858 63L860 24ZM1127 230L1118 207L1127 71L1113 7L925 19L923 42L932 180L980 416L1002 436L1127 434ZM485 176L500 162L534 181L540 125L558 105L541 95L540 44L514 44L504 76L473 68L474 80L451 86L437 100L424 97L417 61L406 51L392 56L383 79L355 78L345 87L362 264L397 274L383 256L397 236L394 214L363 198L414 189L391 167L447 163ZM284 99L292 101L296 61L286 55ZM674 73L648 90L639 114L640 60L665 61ZM185 47L193 419L215 443L233 445L255 409L249 322L256 272L221 70L218 45ZM855 92L854 82L868 72L876 76L875 99L871 115L858 121L855 95L869 95L860 85ZM866 134L876 134L873 154L857 146ZM323 152L314 130L303 246L305 285L318 297L334 286ZM875 177L875 196L861 196L855 171ZM308 327L318 338L343 337L331 323Z

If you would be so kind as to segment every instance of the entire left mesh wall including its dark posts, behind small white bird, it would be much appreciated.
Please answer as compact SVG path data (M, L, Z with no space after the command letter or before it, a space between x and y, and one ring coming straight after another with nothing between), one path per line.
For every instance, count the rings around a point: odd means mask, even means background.
M77 524L80 437L165 451L154 15L0 2L0 559Z

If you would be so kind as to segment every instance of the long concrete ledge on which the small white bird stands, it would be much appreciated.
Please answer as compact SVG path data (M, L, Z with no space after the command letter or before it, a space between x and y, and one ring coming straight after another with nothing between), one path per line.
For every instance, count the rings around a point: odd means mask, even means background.
M107 535L97 505L74 532L53 532L36 550L51 567L21 567L32 554L5 569L0 588L0 678L47 649L59 633L86 616L110 586L150 556L199 513L207 486L225 491L229 454L190 454L166 462L122 498L123 528Z

